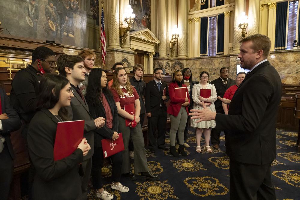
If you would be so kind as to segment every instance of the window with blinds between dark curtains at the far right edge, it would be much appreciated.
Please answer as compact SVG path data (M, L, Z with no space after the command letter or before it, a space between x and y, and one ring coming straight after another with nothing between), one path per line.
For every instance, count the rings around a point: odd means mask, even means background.
M293 41L296 40L297 8L298 8L298 1L289 2L289 25L287 31L287 49L293 49Z

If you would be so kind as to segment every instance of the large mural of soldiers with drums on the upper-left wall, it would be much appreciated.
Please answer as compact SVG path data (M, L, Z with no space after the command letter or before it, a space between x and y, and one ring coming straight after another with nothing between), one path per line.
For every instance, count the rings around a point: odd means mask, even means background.
M0 1L2 27L13 36L88 47L81 42L87 14L79 12L79 1L82 0Z

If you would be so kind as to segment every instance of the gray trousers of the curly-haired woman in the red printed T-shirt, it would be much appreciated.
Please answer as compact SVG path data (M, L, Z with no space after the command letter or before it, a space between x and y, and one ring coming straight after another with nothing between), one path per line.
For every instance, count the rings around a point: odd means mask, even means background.
M132 140L134 146L134 173L148 172L149 168L141 124L137 124L134 128L126 127L125 118L119 115L119 133L122 133L125 148L122 151L122 174L129 173L131 170L128 151L130 140Z

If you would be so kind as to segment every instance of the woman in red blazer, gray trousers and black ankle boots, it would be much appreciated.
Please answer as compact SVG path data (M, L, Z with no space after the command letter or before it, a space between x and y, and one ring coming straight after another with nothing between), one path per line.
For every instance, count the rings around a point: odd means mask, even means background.
M175 88L185 88L185 98L180 98L178 95L179 90ZM190 104L190 96L187 91L187 86L184 85L183 76L181 71L175 70L172 77L172 83L169 85L170 105L168 106L167 113L170 114L171 130L170 130L170 152L174 157L179 157L176 152L175 141L176 132L178 130L179 148L178 152L183 156L187 156L184 151L184 128L187 122L188 106Z

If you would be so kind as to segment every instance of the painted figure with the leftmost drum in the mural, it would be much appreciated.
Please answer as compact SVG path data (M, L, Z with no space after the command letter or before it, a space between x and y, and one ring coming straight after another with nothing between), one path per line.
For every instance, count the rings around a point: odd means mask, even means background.
M35 0L27 0L27 16L26 21L28 22L29 26L32 27L30 34L33 38L37 37L37 24L38 19L40 16L38 5L36 4Z

